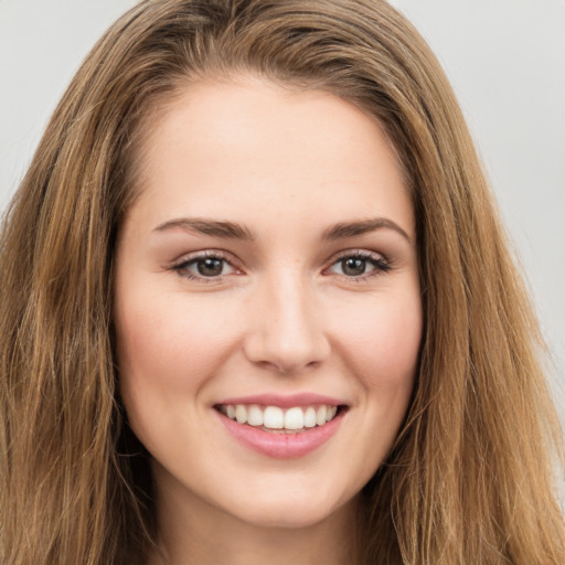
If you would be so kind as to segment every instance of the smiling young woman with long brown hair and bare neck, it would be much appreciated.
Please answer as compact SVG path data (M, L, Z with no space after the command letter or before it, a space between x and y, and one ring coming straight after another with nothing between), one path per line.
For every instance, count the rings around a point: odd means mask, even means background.
M385 2L141 2L0 273L3 563L563 563L535 322Z

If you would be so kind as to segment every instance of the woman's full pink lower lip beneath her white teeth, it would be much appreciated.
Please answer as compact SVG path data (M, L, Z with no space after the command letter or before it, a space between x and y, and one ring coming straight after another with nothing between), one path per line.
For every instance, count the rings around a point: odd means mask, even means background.
M220 412L216 412L222 424L244 446L252 450L276 459L303 457L328 441L338 430L343 412L323 426L306 428L296 434L277 434L254 428L247 424L238 424Z

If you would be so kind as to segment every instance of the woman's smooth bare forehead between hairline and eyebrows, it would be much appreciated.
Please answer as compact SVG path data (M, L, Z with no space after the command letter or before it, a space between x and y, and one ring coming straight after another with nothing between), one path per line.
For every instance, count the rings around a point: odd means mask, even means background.
M139 203L162 221L258 209L296 215L298 204L334 222L362 209L413 214L376 119L327 92L257 78L191 84L142 129ZM404 221L412 230L413 217Z

